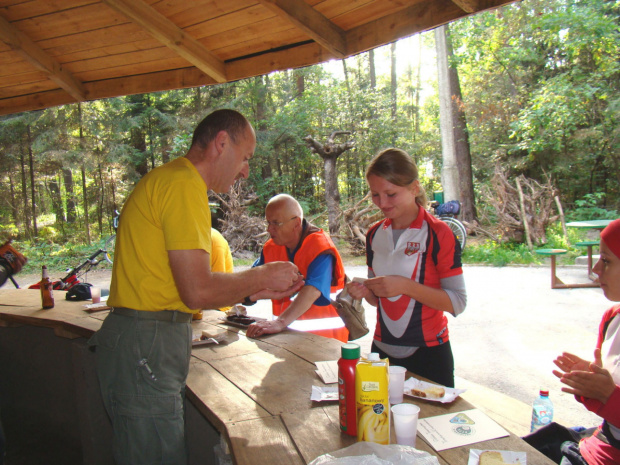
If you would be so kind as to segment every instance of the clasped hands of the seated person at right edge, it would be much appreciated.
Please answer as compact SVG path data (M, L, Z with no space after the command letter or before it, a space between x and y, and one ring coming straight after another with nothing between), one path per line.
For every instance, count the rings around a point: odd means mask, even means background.
M563 358L565 356L568 357ZM562 359L560 363L558 363L559 359ZM553 374L567 386L562 388L562 392L596 399L604 404L616 388L616 383L611 374L602 367L600 349L594 351L594 362L592 363L575 355L564 353L556 359L555 364L564 371L564 373L557 370L553 371ZM571 369L566 370L569 366Z

